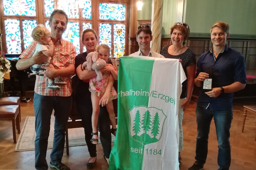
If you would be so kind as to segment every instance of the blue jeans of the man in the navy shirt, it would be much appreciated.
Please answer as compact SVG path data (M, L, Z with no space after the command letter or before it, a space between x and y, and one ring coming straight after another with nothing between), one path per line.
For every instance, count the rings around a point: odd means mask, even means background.
M208 135L211 120L214 118L218 140L218 165L219 170L228 170L230 167L230 126L233 119L232 108L227 111L210 111L200 106L196 107L197 140L196 140L196 163L203 165L206 162L208 152Z

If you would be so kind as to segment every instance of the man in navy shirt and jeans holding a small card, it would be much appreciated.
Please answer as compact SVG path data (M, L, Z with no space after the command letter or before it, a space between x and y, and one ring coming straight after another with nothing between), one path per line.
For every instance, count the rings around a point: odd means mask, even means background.
M203 169L208 152L208 134L212 118L219 143L218 170L228 170L230 167L229 137L233 119L233 93L244 89L246 72L242 54L226 44L228 31L227 23L216 22L211 27L213 47L202 54L197 61L195 85L202 87L204 80L212 78L212 88L208 92L201 89L197 99L196 161L188 170Z

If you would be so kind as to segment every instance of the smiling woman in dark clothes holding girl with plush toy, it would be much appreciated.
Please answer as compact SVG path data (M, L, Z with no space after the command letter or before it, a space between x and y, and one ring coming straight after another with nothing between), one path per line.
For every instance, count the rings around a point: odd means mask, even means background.
M97 35L93 29L86 29L82 33L82 43L86 47L86 52L78 54L75 58L75 68L76 75L78 76L77 90L75 92L75 107L80 114L83 122L83 127L85 131L85 140L90 153L90 159L87 163L87 169L93 169L96 161L96 145L91 143L91 132L92 132L92 102L91 102L91 92L89 91L89 80L96 76L95 71L88 71L83 67L83 63L86 61L86 56L90 52L96 51L96 45L98 42ZM110 61L111 62L111 61ZM112 66L107 64L101 69L102 73L111 72ZM111 77L111 76L110 76ZM113 84L112 84L113 85ZM109 96L103 95L101 98L101 103L104 107L100 106L99 116L98 116L98 129L100 132L100 140L102 143L104 158L108 162L110 151L111 151L111 130L109 114L105 107L105 104L109 100ZM99 104L99 103L98 103Z

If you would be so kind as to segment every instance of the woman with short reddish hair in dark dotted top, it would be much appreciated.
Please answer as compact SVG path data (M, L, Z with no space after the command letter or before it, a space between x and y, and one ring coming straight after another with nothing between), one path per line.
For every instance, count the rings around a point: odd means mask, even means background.
M189 101L191 99L193 87L194 87L194 77L196 68L196 58L195 53L188 47L184 46L185 41L189 36L190 30L189 26L183 22L177 22L171 27L171 41L172 45L164 46L162 49L162 55L165 58L179 59L181 60L181 65L187 76L187 80L182 83L182 93L179 100L179 163L181 162L181 151L183 150L183 131L182 131L182 119L183 113L187 108Z

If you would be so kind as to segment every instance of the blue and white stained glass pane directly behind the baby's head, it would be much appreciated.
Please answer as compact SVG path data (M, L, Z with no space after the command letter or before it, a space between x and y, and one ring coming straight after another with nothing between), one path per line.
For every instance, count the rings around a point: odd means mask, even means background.
M31 37L31 33L36 26L37 20L22 20L24 49L34 41Z

